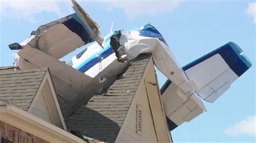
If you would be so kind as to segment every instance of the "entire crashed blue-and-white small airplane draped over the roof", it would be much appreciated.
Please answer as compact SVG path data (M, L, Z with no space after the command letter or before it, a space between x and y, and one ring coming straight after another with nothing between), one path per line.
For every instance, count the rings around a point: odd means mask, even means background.
M65 117L92 96L102 94L122 74L130 61L152 53L154 65L168 80L160 89L170 131L197 117L252 64L241 48L228 42L180 67L163 35L151 24L123 34L112 31L100 37L99 26L72 0L75 13L39 26L21 44L9 45L20 69L48 67ZM58 59L93 41L68 62ZM71 96L72 95L72 96Z

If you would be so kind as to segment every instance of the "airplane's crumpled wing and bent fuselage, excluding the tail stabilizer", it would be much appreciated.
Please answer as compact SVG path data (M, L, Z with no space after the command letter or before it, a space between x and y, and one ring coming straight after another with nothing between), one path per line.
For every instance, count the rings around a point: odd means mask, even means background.
M9 46L20 49L14 55L15 66L21 69L49 67L57 94L67 101L63 105L67 110L84 96L89 99L102 94L123 73L129 61L142 53L153 54L156 67L178 85L180 96L197 96L155 27L147 24L126 34L111 30L101 38L99 26L76 1L72 3L76 13L42 25L21 44ZM96 42L66 62L72 68L58 60L93 41ZM200 98L194 99L205 110Z

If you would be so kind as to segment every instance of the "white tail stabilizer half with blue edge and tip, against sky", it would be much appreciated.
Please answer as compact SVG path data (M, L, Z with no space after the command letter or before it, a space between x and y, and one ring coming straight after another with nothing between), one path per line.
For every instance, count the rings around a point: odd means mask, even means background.
M196 83L198 95L213 103L239 76L251 67L239 46L228 42L183 67L189 80Z

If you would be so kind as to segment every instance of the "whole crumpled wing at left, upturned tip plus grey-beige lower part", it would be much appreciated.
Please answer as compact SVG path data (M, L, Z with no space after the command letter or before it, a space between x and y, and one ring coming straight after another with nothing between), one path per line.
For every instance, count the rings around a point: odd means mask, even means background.
M97 45L96 47L101 49L100 46L103 41L99 36L99 26L75 1L72 2L76 13L39 26L21 44L9 45L10 49L19 49L13 56L15 66L20 69L45 67L50 69L52 81L60 99L60 106L67 113L64 115L65 117L72 112L69 109L75 109L84 100L90 99L93 95L101 94L105 87L116 80L116 77L109 77L104 83L99 83L100 75L92 78L58 60L76 48L92 41L97 41L98 44L95 42L93 45ZM111 69L105 68L105 71L109 70Z

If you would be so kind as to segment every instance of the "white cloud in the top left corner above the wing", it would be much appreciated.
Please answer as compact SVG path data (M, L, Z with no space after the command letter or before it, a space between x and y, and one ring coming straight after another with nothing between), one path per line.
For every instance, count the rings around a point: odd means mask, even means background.
M25 19L29 22L36 22L35 14L42 12L55 13L63 16L60 5L67 5L70 1L57 0L3 0L0 2L0 18L9 17ZM70 5L70 4L69 4ZM68 7L68 6L66 6ZM71 6L70 6L71 7Z

